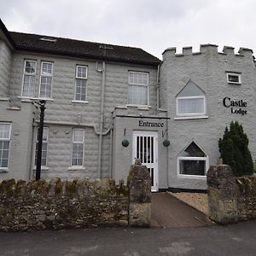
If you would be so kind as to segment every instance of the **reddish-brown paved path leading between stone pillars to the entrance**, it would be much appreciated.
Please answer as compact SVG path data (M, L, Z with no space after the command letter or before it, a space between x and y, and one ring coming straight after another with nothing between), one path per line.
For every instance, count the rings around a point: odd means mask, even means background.
M163 192L153 193L151 197L152 227L197 227L210 224L207 216L189 207L183 201Z

